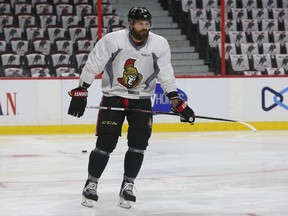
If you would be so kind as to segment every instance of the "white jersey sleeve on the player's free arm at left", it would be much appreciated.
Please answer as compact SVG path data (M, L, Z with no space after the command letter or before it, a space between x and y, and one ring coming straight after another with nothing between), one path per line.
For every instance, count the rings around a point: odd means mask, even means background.
M110 50L112 48L113 45L108 37L103 37L99 40L88 55L88 60L82 69L80 80L92 84L95 76L104 70L110 58Z

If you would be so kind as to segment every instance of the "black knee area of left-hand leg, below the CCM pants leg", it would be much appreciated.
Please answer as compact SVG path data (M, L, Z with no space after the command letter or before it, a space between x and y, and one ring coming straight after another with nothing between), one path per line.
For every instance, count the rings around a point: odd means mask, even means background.
M115 135L99 135L96 142L96 148L104 152L112 153L116 147L118 138L119 137Z

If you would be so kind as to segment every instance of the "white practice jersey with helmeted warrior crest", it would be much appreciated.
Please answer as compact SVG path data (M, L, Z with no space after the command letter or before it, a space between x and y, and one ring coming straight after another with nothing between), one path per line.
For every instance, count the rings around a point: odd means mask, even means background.
M177 91L168 42L152 32L140 46L134 44L128 29L101 38L90 52L80 79L92 84L102 72L102 91L108 97L149 98L156 79L165 93Z

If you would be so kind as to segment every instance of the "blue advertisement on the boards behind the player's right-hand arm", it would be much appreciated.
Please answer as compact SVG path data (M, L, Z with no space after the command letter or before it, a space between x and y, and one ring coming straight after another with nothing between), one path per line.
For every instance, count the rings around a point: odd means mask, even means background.
M187 101L187 95L180 89L177 88L179 96ZM165 95L163 89L160 84L156 84L155 94L152 97L152 110L162 111L162 112L170 112L171 111L171 103L168 97Z

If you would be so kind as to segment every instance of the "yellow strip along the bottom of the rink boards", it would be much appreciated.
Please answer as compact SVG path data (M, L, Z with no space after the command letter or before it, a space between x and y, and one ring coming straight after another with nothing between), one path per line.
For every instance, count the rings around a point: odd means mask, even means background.
M288 130L288 122L247 122L257 130ZM127 124L123 132L127 132ZM189 132L189 131L241 131L250 130L239 123L154 123L153 132ZM0 135L18 134L84 134L95 133L95 125L37 125L37 126L0 126Z

